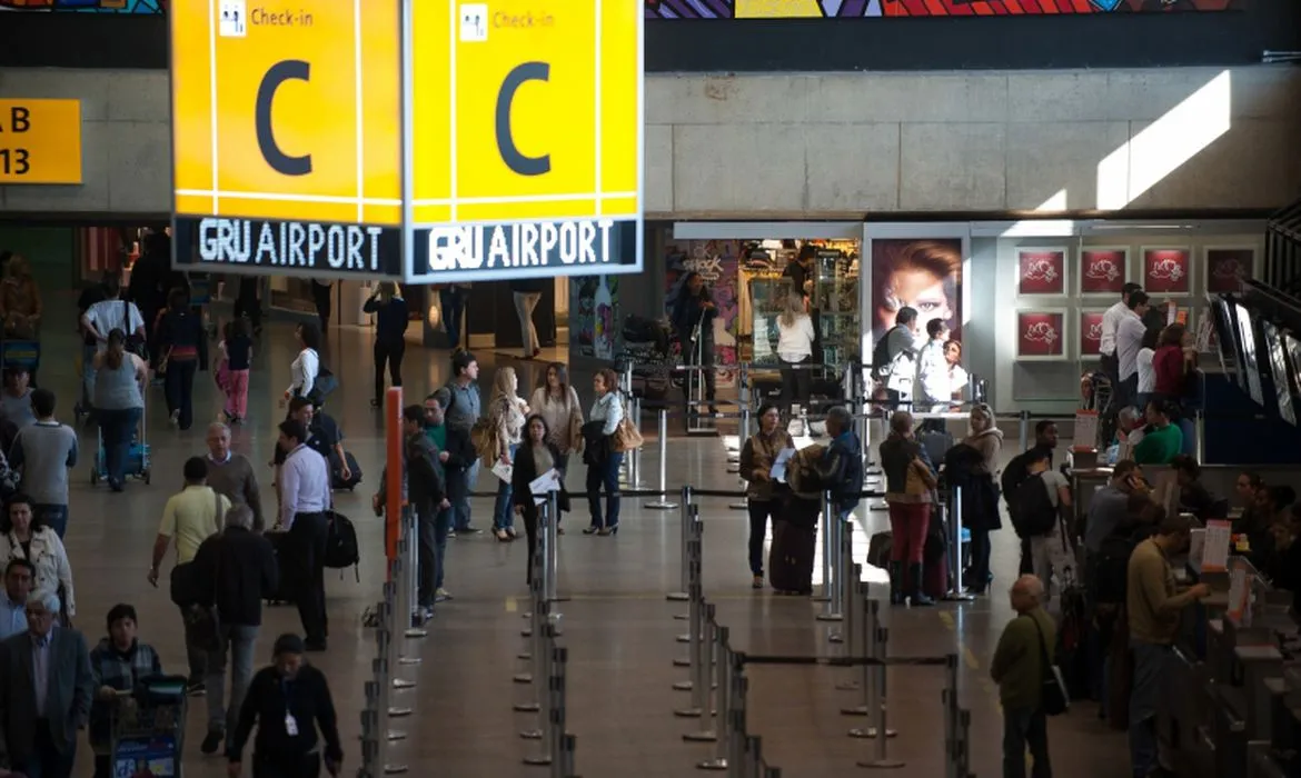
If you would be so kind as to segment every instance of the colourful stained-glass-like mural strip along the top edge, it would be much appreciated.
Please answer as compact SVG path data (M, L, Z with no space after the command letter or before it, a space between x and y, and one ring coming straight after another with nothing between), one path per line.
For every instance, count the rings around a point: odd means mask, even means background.
M1246 0L645 0L656 20L1058 16L1241 10Z

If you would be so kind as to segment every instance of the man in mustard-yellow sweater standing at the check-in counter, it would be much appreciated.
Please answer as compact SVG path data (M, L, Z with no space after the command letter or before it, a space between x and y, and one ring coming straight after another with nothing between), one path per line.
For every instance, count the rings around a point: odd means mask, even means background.
M1125 614L1134 660L1129 691L1129 765L1134 778L1170 774L1158 764L1157 705L1162 677L1170 666L1184 608L1210 593L1206 584L1181 589L1170 566L1171 557L1188 549L1190 533L1192 524L1184 516L1162 516L1157 533L1129 554Z

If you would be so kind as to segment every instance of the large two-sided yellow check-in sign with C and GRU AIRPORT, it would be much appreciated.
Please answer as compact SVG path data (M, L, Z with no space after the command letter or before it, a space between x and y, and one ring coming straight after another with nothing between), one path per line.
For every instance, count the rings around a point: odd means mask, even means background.
M639 0L173 0L176 263L640 272Z

